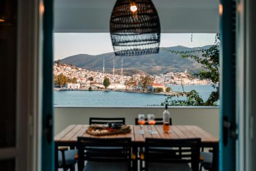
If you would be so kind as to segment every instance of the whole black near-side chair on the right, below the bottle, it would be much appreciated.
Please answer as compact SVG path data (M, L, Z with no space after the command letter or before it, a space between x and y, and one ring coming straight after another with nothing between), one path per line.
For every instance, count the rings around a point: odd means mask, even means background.
M145 171L198 171L200 143L201 139L146 138Z

